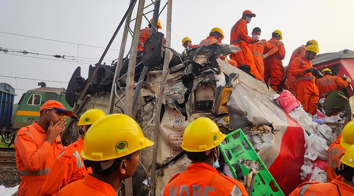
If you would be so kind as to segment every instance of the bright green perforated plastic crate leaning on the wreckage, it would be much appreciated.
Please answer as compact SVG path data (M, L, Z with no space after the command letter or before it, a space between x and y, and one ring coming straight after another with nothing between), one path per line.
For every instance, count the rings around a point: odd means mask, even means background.
M250 172L250 169L247 169L244 165L239 164L237 162L238 160L244 158L245 160L258 160L259 162L259 173L255 176L252 196L284 196L284 193L275 182L272 174L269 173L267 167L264 165L261 158L259 158L255 149L253 149L251 143L248 141L241 129L237 129L232 133L229 133L226 136L225 141L228 142L226 144L219 144L219 148L235 179L237 179L237 175L236 169L232 166L233 164L238 164L240 166L243 176L246 176ZM229 157L227 157L224 150L229 152ZM272 182L273 186L278 191L272 190L270 186Z

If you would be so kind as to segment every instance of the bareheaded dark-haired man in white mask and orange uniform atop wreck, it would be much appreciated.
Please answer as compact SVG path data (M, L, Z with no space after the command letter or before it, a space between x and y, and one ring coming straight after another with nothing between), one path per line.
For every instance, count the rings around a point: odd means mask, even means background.
M259 36L261 36L261 28L256 27L252 31L252 38L256 39L257 42L250 44L250 50L252 52L253 60L255 61L257 71L258 71L259 75L261 75L261 78L264 79L263 59L276 53L276 51L278 51L278 48L275 45L273 45L265 40L259 41ZM263 54L264 48L269 50L268 53Z

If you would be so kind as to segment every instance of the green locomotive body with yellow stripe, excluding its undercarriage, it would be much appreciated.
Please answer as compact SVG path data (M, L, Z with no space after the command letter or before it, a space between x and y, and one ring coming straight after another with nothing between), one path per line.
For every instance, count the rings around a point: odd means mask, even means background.
M30 97L32 96L32 102ZM33 98L35 97L35 100ZM21 98L21 102L12 118L12 129L20 129L27 125L33 124L39 119L39 109L47 100L57 100L61 102L68 110L73 108L65 101L64 94L55 92L26 92ZM70 122L69 117L65 117L66 122Z

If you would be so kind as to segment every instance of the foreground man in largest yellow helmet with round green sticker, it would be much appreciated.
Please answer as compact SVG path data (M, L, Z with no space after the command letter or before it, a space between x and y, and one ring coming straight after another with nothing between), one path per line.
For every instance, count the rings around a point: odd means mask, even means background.
M138 123L125 114L99 119L87 131L81 151L92 174L64 186L58 196L116 196L122 180L133 176L139 151L153 145Z

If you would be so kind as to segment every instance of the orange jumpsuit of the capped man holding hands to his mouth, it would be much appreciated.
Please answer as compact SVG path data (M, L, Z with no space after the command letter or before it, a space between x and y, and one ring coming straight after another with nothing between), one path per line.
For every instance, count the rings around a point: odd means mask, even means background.
M37 121L22 127L15 139L16 164L21 176L18 196L38 196L45 183L54 160L63 151L61 138L58 136L51 145L46 141L47 132Z

